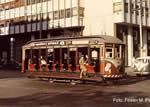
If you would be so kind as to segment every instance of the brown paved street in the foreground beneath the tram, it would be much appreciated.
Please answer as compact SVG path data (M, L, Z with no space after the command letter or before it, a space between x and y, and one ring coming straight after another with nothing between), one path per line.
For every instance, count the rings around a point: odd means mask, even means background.
M19 71L1 70L0 107L148 107L149 83L149 77L132 75L114 85L70 85L27 78Z

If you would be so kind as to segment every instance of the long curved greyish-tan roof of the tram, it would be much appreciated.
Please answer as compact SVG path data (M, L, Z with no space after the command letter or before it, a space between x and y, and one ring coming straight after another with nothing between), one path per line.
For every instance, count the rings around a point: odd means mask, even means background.
M78 37L54 37L54 38L48 38L48 39L36 39L31 40L27 44L32 42L42 42L42 41L53 41L53 40L99 40L101 43L116 43L116 44L124 44L120 39L113 37L113 36L107 36L107 35L96 35L96 36L78 36Z

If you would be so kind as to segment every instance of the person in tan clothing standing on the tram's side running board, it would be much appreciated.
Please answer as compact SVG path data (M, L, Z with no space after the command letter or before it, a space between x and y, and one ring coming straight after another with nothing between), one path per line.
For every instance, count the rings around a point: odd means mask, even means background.
M79 64L80 64L80 78L82 78L82 76L86 76L86 72L87 72L87 68L85 67L85 60L84 57L81 56L80 60L79 60Z

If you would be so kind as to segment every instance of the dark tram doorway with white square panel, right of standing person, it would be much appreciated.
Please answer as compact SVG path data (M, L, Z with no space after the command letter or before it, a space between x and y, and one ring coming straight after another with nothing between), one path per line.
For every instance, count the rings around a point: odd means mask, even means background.
M90 49L91 65L94 65L95 72L100 71L100 48L99 46L91 46Z

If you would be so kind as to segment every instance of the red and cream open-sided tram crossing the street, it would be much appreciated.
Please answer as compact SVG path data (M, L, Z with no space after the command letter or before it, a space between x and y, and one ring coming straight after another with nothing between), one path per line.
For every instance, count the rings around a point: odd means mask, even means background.
M81 77L80 58L86 75ZM112 36L40 39L22 48L22 72L27 77L102 81L125 75L125 44Z

